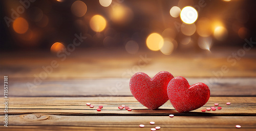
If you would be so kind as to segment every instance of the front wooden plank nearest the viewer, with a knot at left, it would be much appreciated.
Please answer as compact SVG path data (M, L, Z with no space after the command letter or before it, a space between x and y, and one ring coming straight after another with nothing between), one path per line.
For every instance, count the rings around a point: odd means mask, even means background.
M0 119L4 119L0 116ZM1 129L45 129L45 130L150 130L161 126L161 130L234 130L236 124L242 130L256 128L256 116L61 116L61 115L12 115L9 127ZM150 125L154 121L154 125ZM0 122L3 125L3 121ZM139 124L144 124L140 128Z

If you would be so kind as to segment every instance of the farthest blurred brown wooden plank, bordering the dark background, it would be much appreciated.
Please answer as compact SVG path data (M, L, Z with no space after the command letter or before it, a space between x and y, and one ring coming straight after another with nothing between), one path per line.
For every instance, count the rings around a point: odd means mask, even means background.
M42 66L51 66L51 62L56 60L58 67L47 74L48 78L130 78L138 71L154 76L162 70L174 76L215 77L214 72L222 71L222 66L226 66L228 71L218 74L220 77L256 77L255 49L246 51L243 57L229 58L238 49L212 49L211 53L204 50L196 53L177 51L170 56L150 50L129 55L123 49L77 49L66 58L58 58L47 51L6 52L1 56L0 72L12 78L33 80L45 72Z

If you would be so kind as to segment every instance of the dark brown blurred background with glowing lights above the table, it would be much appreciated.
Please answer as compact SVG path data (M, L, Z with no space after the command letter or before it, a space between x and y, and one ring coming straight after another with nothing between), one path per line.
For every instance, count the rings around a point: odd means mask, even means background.
M255 12L255 1L239 0L4 0L0 46L56 53L81 33L87 39L77 48L128 54L243 47L244 39L256 39Z

